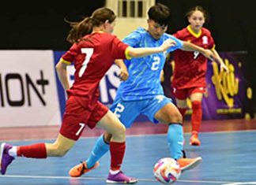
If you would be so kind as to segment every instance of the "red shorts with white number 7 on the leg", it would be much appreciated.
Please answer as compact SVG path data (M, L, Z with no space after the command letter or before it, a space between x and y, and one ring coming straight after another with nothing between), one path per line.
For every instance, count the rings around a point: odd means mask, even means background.
M85 126L94 128L107 111L107 107L100 102L96 102L92 110L85 109L73 96L70 96L66 101L66 110L59 133L68 139L77 141Z

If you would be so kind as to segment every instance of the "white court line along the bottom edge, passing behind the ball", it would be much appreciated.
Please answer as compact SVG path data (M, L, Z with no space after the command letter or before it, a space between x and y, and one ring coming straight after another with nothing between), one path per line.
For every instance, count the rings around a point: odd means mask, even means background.
M86 177L70 177L70 176L16 176L16 175L6 175L0 176L1 178L21 178L21 179L95 179L95 180L105 180L106 178L100 176L86 176ZM138 179L142 182L156 182L156 179ZM227 182L227 181L213 181L213 180L188 180L188 179L179 179L177 182L183 183L216 183L216 184L226 184L226 185L236 185L237 183L234 182ZM245 183L238 183L238 184L245 184ZM256 183L251 183L256 184Z

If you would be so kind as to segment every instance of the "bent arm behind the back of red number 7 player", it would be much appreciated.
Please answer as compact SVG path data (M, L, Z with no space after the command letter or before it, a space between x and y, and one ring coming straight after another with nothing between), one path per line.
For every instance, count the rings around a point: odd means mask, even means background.
M56 72L58 74L58 79L62 83L62 87L67 91L70 89L70 83L68 80L68 75L66 71L66 66L70 65L69 61L65 61L62 58L58 61L58 64L55 66Z

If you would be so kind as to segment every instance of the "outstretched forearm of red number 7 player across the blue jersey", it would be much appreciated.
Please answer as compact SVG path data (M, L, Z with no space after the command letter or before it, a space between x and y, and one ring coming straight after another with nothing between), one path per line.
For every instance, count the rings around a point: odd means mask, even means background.
M169 47L175 46L176 43L173 39L167 39L164 41L164 43L161 46L158 47L127 47L126 49L126 58L130 59L130 57L144 57L146 55L150 54L156 54L160 52L164 52L165 50L168 50Z

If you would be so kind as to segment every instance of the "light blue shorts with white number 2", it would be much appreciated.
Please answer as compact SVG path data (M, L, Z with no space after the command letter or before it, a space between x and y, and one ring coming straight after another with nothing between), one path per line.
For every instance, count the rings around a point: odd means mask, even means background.
M171 98L164 95L137 101L123 101L121 98L115 98L110 109L126 128L130 128L140 114L148 117L154 124L158 124L159 121L155 119L155 114L168 103L172 103Z

